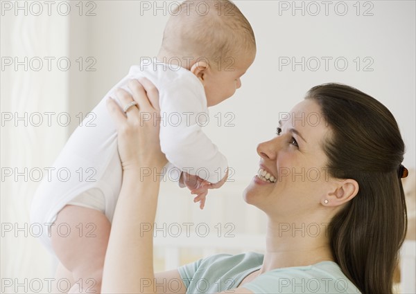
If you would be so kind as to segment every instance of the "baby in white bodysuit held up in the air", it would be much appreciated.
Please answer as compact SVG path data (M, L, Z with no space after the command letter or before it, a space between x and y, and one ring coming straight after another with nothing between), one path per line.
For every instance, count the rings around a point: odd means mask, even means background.
M205 9L200 8L201 2ZM70 293L100 293L105 250L121 190L116 129L105 100L115 98L118 88L129 91L129 80L147 77L159 90L164 116L160 145L169 165L182 172L180 185L198 191L205 183L220 187L227 178L227 160L202 132L206 116L198 114L207 113L207 107L240 88L240 78L255 55L252 27L232 2L184 2L168 19L157 60L132 66L94 108L93 119L87 118L73 132L50 177L65 180L43 181L31 210L33 223L49 224L41 240L60 261L57 279L71 280ZM70 176L61 176L62 171Z

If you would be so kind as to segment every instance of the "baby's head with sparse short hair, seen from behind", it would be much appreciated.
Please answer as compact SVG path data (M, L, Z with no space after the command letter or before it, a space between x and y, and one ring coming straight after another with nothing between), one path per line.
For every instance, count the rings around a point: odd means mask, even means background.
M248 20L231 1L184 1L168 19L159 57L187 64L205 88L208 106L234 95L256 56Z

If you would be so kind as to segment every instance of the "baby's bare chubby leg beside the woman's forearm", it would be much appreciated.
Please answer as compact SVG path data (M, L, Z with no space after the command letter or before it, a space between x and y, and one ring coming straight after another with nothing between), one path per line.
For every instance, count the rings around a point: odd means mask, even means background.
M91 208L67 205L51 230L51 241L58 259L73 275L69 293L101 293L105 250L110 221Z

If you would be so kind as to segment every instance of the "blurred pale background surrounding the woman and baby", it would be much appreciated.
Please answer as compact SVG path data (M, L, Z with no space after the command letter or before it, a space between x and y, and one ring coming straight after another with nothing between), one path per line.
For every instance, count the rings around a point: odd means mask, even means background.
M56 260L37 240L46 227L29 223L33 193L87 113L130 66L157 55L177 2L0 3L1 292L47 293ZM349 84L385 104L406 143L404 165L415 168L415 1L235 3L252 24L257 57L234 97L210 109L205 127L232 174L202 211L187 190L164 181L157 270L234 252L236 244L262 250L266 219L241 197L259 168L256 147L317 84ZM406 181L414 219L413 170ZM26 288L16 288L25 279ZM30 284L37 279L42 291Z

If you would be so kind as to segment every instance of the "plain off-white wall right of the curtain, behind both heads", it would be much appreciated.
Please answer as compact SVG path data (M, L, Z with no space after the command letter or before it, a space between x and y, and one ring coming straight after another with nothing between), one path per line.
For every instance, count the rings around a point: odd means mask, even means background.
M415 3L367 1L364 6L362 2L360 16L356 16L352 1L347 3L347 14L341 17L336 12L341 14L343 6L340 1L333 1L328 16L325 6L320 4L320 15L313 17L308 12L314 13L316 6L301 2L305 16L301 10L295 10L295 16L291 10L279 10L286 3L293 6L292 1L236 1L254 28L257 59L234 98L211 109L213 123L206 128L229 157L236 176L248 178L257 171L255 147L274 135L279 112L290 111L311 86L324 82L356 86L383 102L397 118L405 138L408 152L404 163L414 167ZM149 3L154 5L153 1ZM373 16L362 16L366 10ZM97 15L89 18L88 27L88 53L97 59L97 71L90 76L91 96L85 98L88 107L98 102L127 73L130 65L141 57L157 54L168 12L168 9L140 10L138 1L98 4ZM279 59L285 57L295 57L296 61L305 57L305 71L301 66L296 66L295 71L291 66L279 70ZM311 57L320 59L318 71L308 69L315 67ZM332 58L328 71L322 57ZM338 57L340 68L342 60L347 60L345 71L336 69L334 60ZM359 71L356 57L361 62ZM370 62L372 65L367 69L372 71L364 71ZM214 115L221 112L224 118L229 111L235 115L232 121L235 127L217 127Z

